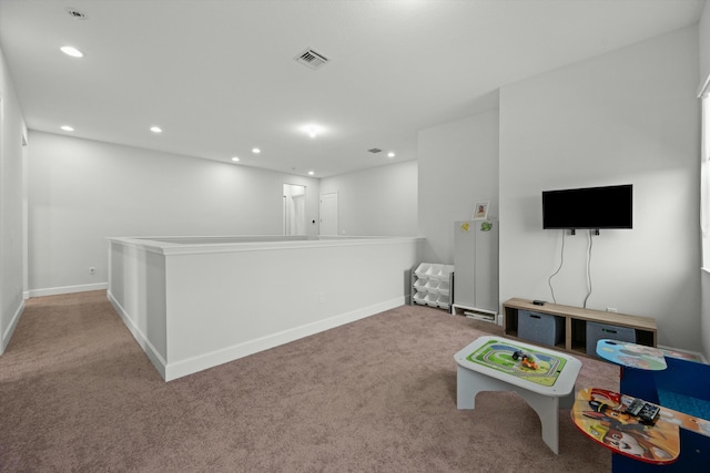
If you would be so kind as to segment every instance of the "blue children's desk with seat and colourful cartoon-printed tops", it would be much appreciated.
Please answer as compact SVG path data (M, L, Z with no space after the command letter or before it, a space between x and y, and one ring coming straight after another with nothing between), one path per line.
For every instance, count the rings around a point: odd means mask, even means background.
M610 339L597 342L597 354L620 367L621 394L605 394L594 388L580 391L572 420L582 432L613 452L612 470L666 473L708 470L710 367L673 350ZM628 404L625 400L633 398L659 408L653 425L643 425L625 414ZM595 414L591 402L605 405Z

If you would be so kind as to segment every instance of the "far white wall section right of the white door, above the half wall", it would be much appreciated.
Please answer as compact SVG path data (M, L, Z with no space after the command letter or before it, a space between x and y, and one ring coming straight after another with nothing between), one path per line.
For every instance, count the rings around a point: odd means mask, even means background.
M416 235L417 168L405 161L321 179L322 194L337 192L338 235Z

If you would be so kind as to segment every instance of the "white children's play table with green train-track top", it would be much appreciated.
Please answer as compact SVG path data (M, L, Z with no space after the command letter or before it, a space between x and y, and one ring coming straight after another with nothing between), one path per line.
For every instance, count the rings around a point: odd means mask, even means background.
M537 368L524 366L520 352ZM458 351L456 405L474 409L481 391L513 391L537 412L542 441L559 453L559 410L575 403L575 382L581 362L569 354L501 337L479 337Z

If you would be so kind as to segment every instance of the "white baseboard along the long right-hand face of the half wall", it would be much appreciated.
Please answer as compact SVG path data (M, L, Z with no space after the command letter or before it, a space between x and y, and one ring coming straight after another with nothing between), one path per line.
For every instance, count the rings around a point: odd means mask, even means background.
M357 310L329 317L324 320L318 320L317 322L306 323L301 327L295 327L266 337L237 343L221 350L211 351L209 353L176 362L169 362L165 366L163 378L165 381L172 381L187 374L196 373L197 371L206 370L260 351L268 350L270 348L278 347L280 345L285 345L304 337L351 323L356 320L384 312L385 310L394 309L395 307L403 306L405 302L406 297L397 297Z

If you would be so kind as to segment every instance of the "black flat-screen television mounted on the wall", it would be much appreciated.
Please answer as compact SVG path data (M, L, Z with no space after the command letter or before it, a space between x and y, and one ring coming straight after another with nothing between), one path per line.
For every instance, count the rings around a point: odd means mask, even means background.
M633 186L542 192L542 228L632 228Z

